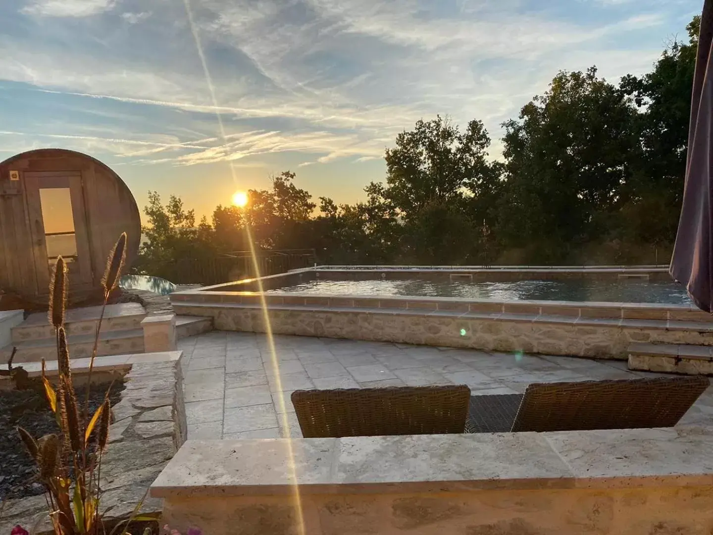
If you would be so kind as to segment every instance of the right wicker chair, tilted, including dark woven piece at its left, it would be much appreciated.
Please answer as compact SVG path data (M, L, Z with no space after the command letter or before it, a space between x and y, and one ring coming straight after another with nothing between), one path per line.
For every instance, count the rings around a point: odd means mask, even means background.
M525 394L471 397L468 431L673 427L708 385L700 375L535 383Z

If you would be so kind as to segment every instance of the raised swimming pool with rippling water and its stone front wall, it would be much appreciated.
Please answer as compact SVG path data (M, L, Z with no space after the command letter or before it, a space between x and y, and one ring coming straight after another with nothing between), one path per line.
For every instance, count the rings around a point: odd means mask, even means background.
M713 346L712 317L665 266L315 266L170 301L228 331L614 359L641 342Z

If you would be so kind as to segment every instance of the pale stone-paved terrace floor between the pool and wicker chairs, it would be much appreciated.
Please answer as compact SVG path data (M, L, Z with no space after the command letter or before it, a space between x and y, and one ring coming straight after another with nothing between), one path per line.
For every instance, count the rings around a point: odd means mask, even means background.
M265 335L212 331L178 345L189 439L301 437L289 399L296 389L468 384L474 395L512 394L531 382L660 375L630 372L626 362L615 360L282 335L275 336L276 373ZM679 426L711 422L713 387Z

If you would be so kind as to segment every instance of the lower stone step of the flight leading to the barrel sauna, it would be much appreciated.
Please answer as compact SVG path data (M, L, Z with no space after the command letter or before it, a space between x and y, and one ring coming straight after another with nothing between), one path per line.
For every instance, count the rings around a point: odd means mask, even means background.
M67 341L71 358L91 357L94 346L93 334L70 335ZM57 347L54 337L41 340L26 340L25 342L17 342L14 345L17 347L14 363L57 359ZM11 352L12 345L0 349L0 362L5 364ZM143 353L143 329L102 331L99 334L98 356L133 353Z

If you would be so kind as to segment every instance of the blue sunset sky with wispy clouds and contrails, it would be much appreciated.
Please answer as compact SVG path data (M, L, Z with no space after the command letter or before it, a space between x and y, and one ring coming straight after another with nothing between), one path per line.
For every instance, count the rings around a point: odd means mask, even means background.
M297 173L362 200L420 118L516 118L560 70L650 71L702 0L1 0L0 160L94 156L198 215Z

